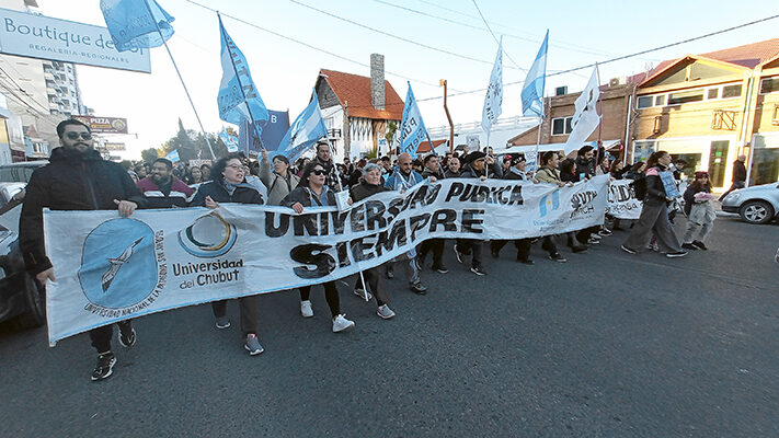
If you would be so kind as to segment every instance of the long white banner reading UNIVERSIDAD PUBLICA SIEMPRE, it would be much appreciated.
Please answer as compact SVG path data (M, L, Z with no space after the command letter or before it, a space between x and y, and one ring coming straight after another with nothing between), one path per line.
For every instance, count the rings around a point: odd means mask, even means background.
M432 238L520 239L603 223L608 176L573 187L444 180L385 192L347 211L222 204L44 214L57 283L49 343L128 318L317 285L382 264Z

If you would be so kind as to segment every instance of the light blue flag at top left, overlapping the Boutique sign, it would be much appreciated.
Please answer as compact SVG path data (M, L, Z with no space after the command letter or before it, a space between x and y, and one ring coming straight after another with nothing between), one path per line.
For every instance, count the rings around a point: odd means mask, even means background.
M118 51L158 47L173 36L173 16L156 0L101 0L105 26Z

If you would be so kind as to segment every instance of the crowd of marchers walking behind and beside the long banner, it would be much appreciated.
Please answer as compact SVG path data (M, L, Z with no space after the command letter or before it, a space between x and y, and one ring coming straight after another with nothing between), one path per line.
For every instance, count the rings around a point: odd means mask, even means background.
M663 172L671 172L671 157L663 151L654 152L645 162L625 168L603 149L582 147L575 157L566 158L561 152L548 151L538 157L538 169L527 169L523 154L495 157L491 148L486 151L467 150L462 153L436 155L428 153L413 160L409 153L401 153L393 161L389 157L360 159L352 163L334 163L328 143L316 146L314 155L298 160L290 165L288 159L277 154L268 159L262 151L260 160L252 161L240 154L229 154L213 165L174 165L160 158L150 165L123 165L103 160L93 148L89 127L81 122L68 119L57 127L60 147L53 150L49 164L35 171L30 180L20 219L20 249L27 270L37 281L46 285L56 281L55 268L46 255L43 233L43 209L51 210L118 210L128 217L138 208L174 208L202 206L210 209L220 204L240 203L255 205L286 206L300 214L306 207L335 206L336 193L348 191L348 203L386 191L404 192L428 178L435 184L444 178L506 178L527 181L528 184L573 185L595 175L609 174L611 178L634 180L637 192L643 199L641 217L632 223L608 218L605 223L563 235L543 235L535 239L518 239L512 243L516 247L516 261L532 265L530 250L538 243L549 260L563 263L561 247L568 246L573 253L583 253L596 245L614 229L626 229L629 237L622 250L638 253L646 247L664 253L668 257L684 256L689 250L706 250L706 238L713 223L711 186L708 174L696 172L684 194L684 211L688 217L687 231L678 241L671 221L676 210L669 208L678 199L666 194ZM677 177L678 172L677 172ZM638 189L640 188L640 189ZM293 212L293 211L290 211ZM458 239L447 244L444 239L424 241L401 257L383 265L366 269L358 276L353 292L366 301L375 300L376 313L382 319L396 315L390 309L390 293L385 278L393 278L396 265L401 265L409 288L417 295L425 295L423 272L447 274L444 265L446 247L452 247L460 264L469 263L474 275L486 274L482 250L485 242ZM508 241L489 242L492 257L500 257L501 250ZM431 255L432 264L426 264ZM335 281L322 284L324 299L330 310L330 323L335 333L351 330L354 321L341 311L340 295ZM311 286L299 288L300 314L313 316ZM259 296L239 298L240 332L243 347L250 355L263 351L257 337ZM230 327L227 316L227 301L211 303L214 324L219 330ZM130 320L118 325L118 342L124 347L136 343L137 334ZM92 380L102 380L113 374L116 356L112 350L113 325L104 325L89 332L92 346L98 351L98 362L92 371Z

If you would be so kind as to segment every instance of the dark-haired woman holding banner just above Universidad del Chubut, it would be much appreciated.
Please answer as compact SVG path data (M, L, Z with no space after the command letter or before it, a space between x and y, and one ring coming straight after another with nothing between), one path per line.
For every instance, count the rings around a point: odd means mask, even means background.
M219 203L263 204L262 195L247 183L245 171L241 158L231 153L214 164L211 181L203 183L197 189L191 206L205 206L211 209L219 208ZM243 347L250 355L259 355L264 349L257 339L257 296L238 299L241 308L241 332L245 344ZM230 320L227 318L227 300L211 302L217 328L228 328Z

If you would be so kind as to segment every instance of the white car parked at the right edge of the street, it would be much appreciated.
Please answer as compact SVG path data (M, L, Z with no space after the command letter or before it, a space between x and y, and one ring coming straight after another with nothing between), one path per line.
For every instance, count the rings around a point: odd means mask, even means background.
M722 199L722 211L737 212L749 223L768 223L779 214L779 182L733 191Z

